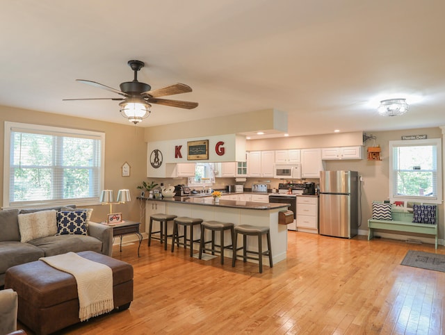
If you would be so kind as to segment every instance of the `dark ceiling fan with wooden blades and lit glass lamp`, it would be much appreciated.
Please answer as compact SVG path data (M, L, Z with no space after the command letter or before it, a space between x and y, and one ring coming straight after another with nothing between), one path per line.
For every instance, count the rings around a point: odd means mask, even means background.
M151 113L151 104L159 104L164 106L172 106L186 109L193 109L197 107L197 102L180 101L180 100L168 100L159 99L159 97L165 97L166 95L178 95L180 93L192 92L192 88L183 83L175 83L174 85L166 86L165 88L158 88L152 90L152 86L147 83L141 83L138 81L138 71L144 67L144 62L140 60L129 60L129 67L134 71L133 81L127 81L121 83L120 90L115 88L96 83L95 81L88 81L83 79L76 79L80 83L86 83L88 85L102 88L110 92L121 95L121 98L87 98L87 99L63 99L68 100L116 100L120 102L120 113L123 117L126 117L129 122L137 124L141 122L145 117L148 117Z

